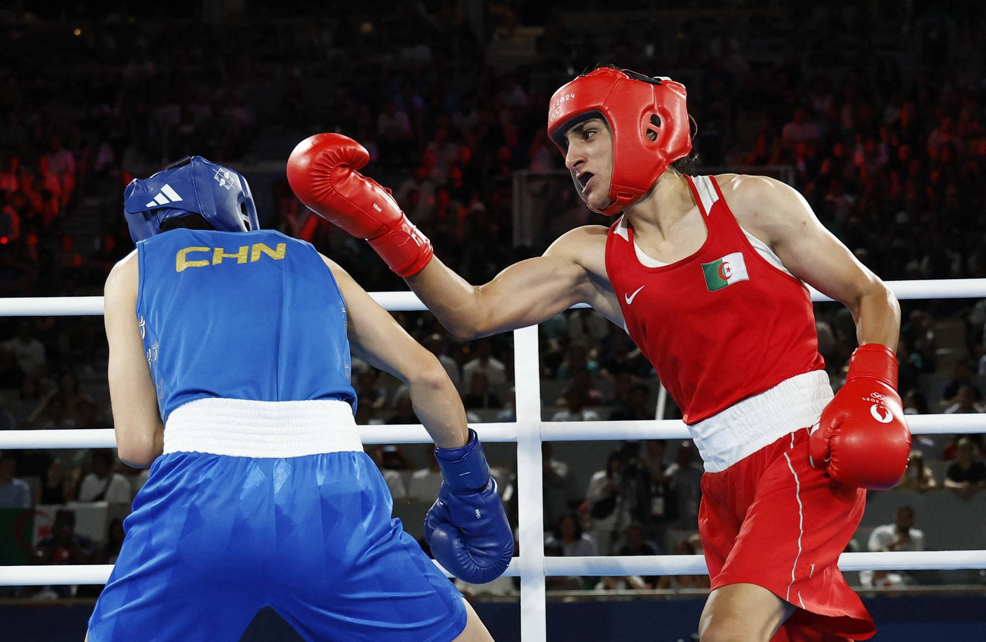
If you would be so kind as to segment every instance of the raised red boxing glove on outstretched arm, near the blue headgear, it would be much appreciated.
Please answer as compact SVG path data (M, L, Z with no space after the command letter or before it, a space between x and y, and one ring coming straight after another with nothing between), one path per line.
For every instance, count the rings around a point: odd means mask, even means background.
M390 190L357 170L366 148L342 134L316 134L288 159L288 182L305 206L360 239L399 276L417 274L435 253L431 241L400 211Z

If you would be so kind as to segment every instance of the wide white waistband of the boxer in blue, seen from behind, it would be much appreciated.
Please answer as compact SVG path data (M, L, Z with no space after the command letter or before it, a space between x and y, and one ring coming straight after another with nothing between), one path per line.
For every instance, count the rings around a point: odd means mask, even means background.
M286 458L362 451L345 401L252 401L207 397L178 406L165 426L165 453Z

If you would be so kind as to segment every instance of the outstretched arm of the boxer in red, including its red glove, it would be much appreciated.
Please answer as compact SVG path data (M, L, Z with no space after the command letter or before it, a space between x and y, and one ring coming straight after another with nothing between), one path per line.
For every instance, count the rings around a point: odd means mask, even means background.
M366 239L458 337L524 327L576 303L588 303L623 324L605 274L605 228L572 230L543 256L512 265L485 285L472 286L434 258L431 242L407 220L389 191L359 173L369 160L366 149L353 139L317 134L291 153L288 181L318 215Z

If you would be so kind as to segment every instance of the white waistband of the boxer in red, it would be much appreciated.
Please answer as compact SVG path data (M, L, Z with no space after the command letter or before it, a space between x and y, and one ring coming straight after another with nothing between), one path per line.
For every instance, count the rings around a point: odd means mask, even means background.
M824 370L786 379L688 426L707 472L725 470L783 435L814 424L832 400Z

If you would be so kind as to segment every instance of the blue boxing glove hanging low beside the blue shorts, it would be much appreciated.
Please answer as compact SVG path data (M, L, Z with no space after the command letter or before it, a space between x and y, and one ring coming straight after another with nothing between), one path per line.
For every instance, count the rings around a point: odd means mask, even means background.
M514 556L514 534L476 432L465 446L436 448L435 457L445 480L425 518L425 539L459 579L492 582Z

